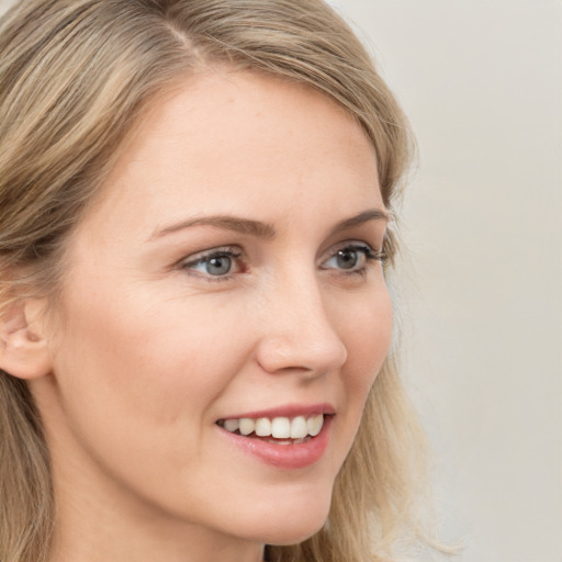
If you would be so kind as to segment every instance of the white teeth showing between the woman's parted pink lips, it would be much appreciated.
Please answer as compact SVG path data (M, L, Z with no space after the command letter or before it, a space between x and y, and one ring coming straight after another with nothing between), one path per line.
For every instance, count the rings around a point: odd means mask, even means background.
M216 424L231 434L265 440L274 445L297 445L316 437L324 425L324 415L220 419Z

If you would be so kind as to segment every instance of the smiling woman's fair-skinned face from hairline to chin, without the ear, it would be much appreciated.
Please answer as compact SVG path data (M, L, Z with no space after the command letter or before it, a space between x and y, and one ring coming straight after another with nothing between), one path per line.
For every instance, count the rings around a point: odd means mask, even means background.
M216 72L160 98L69 241L36 389L57 487L316 531L391 341L385 226L373 150L325 97Z

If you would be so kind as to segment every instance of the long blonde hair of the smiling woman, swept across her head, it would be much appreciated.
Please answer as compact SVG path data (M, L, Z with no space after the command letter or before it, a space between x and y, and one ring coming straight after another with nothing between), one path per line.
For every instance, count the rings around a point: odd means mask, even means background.
M144 108L202 66L307 85L344 106L378 157L392 209L408 126L346 23L321 0L29 0L0 24L0 313L56 297L65 240ZM386 250L395 243L389 238ZM389 358L335 484L324 528L268 547L276 562L390 560L411 502L422 434ZM0 372L0 560L48 557L54 498L41 418L24 382Z

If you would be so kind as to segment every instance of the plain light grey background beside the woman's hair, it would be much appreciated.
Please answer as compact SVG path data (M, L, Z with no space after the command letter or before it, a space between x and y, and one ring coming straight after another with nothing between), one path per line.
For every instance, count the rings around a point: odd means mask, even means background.
M420 145L406 378L442 538L463 562L562 562L562 3L333 3Z

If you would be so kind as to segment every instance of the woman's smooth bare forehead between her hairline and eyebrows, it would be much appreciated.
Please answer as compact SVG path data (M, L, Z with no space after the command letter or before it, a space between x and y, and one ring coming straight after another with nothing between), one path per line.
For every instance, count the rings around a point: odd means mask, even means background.
M306 86L210 71L153 100L98 206L105 218L136 207L133 223L195 207L247 214L288 201L310 205L313 187L325 190L325 205L335 198L345 205L352 187L366 204L379 201L374 150L361 126Z

